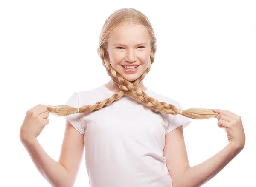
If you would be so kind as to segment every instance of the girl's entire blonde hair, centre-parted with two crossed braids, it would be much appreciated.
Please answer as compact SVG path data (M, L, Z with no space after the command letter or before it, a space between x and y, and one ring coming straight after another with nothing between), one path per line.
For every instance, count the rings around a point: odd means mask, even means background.
M150 37L150 63L146 71L138 79L132 82L123 79L123 77L112 68L107 51L109 34L114 28L121 26L125 23L139 24L145 26ZM157 40L151 23L148 20L148 17L146 17L143 13L133 8L122 8L113 12L105 21L102 27L99 37L99 48L97 49L97 51L99 57L102 59L102 64L106 68L108 75L112 78L113 82L118 84L121 91L116 92L111 97L104 99L103 101L96 102L94 105L84 105L79 109L68 105L58 105L54 107L47 106L48 111L57 116L67 116L74 113L93 112L107 105L110 105L124 95L128 95L132 96L136 102L142 103L143 105L150 108L151 111L153 111L154 113L161 112L172 115L180 114L181 110L179 108L176 108L175 105L167 104L166 102L159 102L157 99L148 96L145 92L141 91L137 87L137 85L144 79L145 75L150 71L151 64L154 62L154 55L157 51L156 41ZM209 119L212 117L216 117L218 114L210 109L189 108L183 110L181 115L192 119Z

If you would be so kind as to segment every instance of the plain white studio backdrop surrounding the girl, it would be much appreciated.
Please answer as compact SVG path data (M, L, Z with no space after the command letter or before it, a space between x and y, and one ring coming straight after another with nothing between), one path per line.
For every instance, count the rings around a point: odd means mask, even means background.
M242 117L244 149L204 187L255 184L256 13L253 0L0 2L0 186L48 187L20 142L26 111L63 105L73 92L107 83L97 55L100 30L120 8L151 21L157 53L143 80L188 108L229 110ZM254 10L254 11L253 11ZM58 161L65 119L49 116L38 141ZM190 166L220 151L227 134L215 118L184 130ZM85 153L85 152L84 152ZM75 187L89 187L83 158Z

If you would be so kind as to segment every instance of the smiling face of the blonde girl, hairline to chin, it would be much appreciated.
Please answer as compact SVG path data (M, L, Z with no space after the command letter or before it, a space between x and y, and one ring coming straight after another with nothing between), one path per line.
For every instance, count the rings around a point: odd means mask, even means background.
M150 40L145 26L123 25L113 29L108 39L111 66L128 81L138 79L150 62Z

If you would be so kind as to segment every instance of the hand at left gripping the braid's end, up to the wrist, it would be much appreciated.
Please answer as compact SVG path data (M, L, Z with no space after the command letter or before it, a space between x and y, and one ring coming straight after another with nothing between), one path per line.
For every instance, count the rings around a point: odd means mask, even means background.
M27 111L20 127L20 140L22 142L37 139L45 125L49 123L47 106L52 105L37 105Z

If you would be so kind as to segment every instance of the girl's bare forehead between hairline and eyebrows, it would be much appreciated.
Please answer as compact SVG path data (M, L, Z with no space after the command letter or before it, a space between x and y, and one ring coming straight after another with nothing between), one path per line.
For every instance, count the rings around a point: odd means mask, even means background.
M114 43L134 44L134 43L148 43L149 34L143 25L122 25L114 28L108 39L108 44Z

